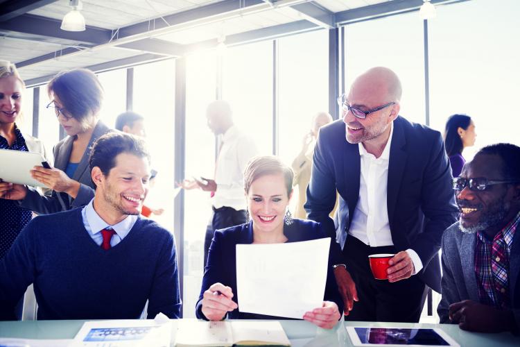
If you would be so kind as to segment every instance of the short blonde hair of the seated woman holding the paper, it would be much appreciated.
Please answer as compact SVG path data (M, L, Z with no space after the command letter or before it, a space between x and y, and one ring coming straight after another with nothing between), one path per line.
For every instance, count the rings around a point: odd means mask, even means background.
M254 157L248 162L244 170L245 194L249 193L249 189L255 180L262 176L273 174L281 174L284 176L287 196L291 196L291 192L293 192L293 169L273 155Z

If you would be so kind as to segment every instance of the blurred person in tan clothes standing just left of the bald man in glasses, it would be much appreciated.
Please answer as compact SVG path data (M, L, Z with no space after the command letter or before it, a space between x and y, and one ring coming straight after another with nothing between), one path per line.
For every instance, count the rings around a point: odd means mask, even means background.
M306 190L311 180L311 168L313 163L314 146L318 138L318 130L326 124L331 123L332 117L327 112L318 112L313 117L312 128L306 133L302 142L302 150L293 160L294 181L293 187L298 186L298 200L294 216L296 218L305 219L306 213L304 204L306 201ZM334 209L336 210L336 209ZM333 213L334 211L332 211Z

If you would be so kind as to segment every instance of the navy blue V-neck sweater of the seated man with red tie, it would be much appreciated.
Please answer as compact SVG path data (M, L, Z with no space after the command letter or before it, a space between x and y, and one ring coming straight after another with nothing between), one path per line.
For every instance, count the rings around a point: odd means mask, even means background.
M104 251L83 226L81 209L33 219L0 261L0 319L34 283L38 319L180 317L173 235L139 217L128 235Z

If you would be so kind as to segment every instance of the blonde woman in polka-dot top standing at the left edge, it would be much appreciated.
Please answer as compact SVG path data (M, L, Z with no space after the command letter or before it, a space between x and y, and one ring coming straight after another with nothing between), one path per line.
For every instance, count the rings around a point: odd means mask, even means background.
M25 83L15 65L0 60L0 149L41 153L49 162L42 142L22 133L16 124L21 118L24 91ZM9 190L8 183L0 183L0 259L32 217L31 211L20 208L16 201L2 198Z

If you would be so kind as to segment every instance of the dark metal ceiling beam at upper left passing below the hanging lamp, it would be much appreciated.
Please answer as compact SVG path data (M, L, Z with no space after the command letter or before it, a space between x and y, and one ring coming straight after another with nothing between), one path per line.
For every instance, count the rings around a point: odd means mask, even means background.
M103 44L110 40L112 31L94 26L87 26L85 31L64 31L60 29L61 21L35 15L21 15L0 22L1 31L15 31L37 37L53 37L83 44Z

